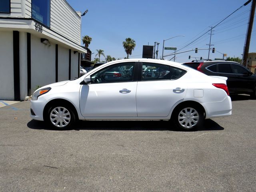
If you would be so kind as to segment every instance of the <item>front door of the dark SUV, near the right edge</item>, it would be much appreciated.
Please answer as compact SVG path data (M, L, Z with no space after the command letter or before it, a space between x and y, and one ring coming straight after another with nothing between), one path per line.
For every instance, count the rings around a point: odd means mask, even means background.
M255 77L250 71L240 64L230 64L234 75L236 76L237 92L252 92L255 84Z

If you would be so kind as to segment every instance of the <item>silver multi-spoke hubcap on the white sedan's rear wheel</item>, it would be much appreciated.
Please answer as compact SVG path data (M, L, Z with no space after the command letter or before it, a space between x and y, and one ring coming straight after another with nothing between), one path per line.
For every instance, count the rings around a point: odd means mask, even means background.
M199 114L193 108L184 108L178 115L179 123L184 128L192 128L198 123Z

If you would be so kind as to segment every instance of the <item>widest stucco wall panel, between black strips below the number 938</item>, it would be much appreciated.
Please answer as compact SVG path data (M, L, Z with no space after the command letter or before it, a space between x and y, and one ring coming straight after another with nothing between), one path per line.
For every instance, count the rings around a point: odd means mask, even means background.
M37 85L55 82L55 44L42 44L40 38L31 35L31 92Z

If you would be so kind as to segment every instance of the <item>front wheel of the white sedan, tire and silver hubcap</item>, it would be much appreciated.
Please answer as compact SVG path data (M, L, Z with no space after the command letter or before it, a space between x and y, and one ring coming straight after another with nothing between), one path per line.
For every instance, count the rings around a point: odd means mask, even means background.
M67 104L54 104L48 109L46 122L56 130L70 129L75 121L75 114Z

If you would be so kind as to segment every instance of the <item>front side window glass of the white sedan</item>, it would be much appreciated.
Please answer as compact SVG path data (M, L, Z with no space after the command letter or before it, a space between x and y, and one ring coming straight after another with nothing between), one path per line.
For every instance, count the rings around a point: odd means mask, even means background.
M107 66L94 73L92 83L131 82L134 76L134 62L120 63Z

